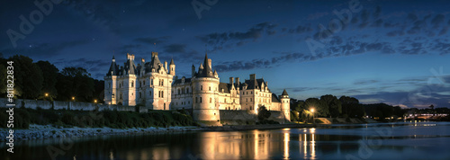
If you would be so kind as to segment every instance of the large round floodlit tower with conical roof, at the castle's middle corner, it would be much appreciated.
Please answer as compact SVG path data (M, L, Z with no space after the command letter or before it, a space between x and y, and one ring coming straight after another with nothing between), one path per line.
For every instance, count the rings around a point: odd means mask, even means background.
M217 87L219 77L214 76L211 69L211 60L205 55L199 72L193 76L193 119L218 121L220 120ZM194 67L193 67L194 69Z

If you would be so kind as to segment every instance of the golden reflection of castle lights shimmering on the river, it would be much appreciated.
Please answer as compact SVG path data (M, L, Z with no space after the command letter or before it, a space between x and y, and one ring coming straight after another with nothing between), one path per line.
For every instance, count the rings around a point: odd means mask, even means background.
M316 158L315 129L309 129L308 134L291 135L290 129L282 133L266 130L243 132L204 132L202 137L208 140L202 142L200 149L202 159L288 159L292 146L299 146L298 153L305 159ZM295 138L295 139L293 139ZM296 144L298 143L298 144ZM283 155L283 156L280 156ZM298 156L298 155L296 155Z

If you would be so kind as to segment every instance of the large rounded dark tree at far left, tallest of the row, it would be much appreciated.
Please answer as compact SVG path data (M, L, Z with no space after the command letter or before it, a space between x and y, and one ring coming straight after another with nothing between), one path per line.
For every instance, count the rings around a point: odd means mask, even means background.
M16 95L24 99L35 99L40 96L43 76L40 67L25 56L14 56L8 60L14 61L14 85Z

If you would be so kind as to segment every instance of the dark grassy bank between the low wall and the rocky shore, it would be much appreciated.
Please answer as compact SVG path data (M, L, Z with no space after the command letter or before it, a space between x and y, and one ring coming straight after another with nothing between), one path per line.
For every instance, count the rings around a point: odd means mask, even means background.
M0 128L6 128L7 108L0 108ZM113 129L198 126L185 111L67 111L14 108L14 129L28 129L30 124L56 127Z

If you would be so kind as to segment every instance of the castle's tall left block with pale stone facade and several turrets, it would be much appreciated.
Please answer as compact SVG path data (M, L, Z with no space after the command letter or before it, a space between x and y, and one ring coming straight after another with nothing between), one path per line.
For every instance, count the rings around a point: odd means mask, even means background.
M169 68L170 67L170 68ZM135 106L142 104L152 110L169 110L171 102L172 81L175 76L174 60L167 67L159 61L157 52L151 53L151 61L141 59L135 65L134 55L127 54L123 67L112 64L104 76L104 102Z

